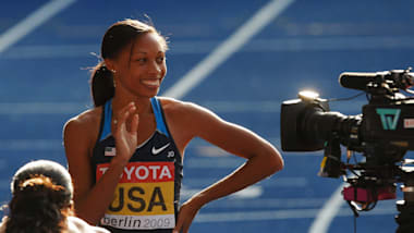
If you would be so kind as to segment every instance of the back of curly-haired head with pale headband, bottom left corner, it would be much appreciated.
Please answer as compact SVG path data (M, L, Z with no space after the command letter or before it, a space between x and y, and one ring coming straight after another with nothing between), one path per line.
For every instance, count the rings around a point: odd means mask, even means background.
M59 163L37 160L14 174L7 233L60 233L71 214L73 186L69 172Z

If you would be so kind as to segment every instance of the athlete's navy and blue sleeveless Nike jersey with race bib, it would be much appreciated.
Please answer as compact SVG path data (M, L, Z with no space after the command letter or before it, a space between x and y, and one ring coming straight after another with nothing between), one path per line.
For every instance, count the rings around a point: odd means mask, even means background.
M156 131L138 145L115 188L100 225L111 232L171 232L175 226L183 164L159 99L151 98ZM117 155L111 134L112 105L105 103L92 165L95 182Z

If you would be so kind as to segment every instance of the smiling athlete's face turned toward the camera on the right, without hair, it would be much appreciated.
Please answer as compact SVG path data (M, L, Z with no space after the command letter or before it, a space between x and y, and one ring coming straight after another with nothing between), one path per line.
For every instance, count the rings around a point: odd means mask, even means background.
M146 33L126 46L113 60L115 95L127 91L135 97L158 94L167 73L166 49L156 33Z

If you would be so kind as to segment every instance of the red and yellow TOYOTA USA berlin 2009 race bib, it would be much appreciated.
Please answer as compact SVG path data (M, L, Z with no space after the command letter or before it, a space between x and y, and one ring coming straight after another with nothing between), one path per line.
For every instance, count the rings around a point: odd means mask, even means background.
M98 164L97 180L108 167ZM173 229L174 163L130 162L100 223L125 230Z

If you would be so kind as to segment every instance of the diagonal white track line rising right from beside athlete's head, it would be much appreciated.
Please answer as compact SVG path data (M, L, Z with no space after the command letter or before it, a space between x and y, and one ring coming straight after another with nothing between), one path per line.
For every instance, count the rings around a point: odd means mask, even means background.
M240 50L253 36L283 12L294 0L272 0L244 23L233 35L219 45L207 58L194 66L163 96L182 98L192 88L205 79L221 63Z

